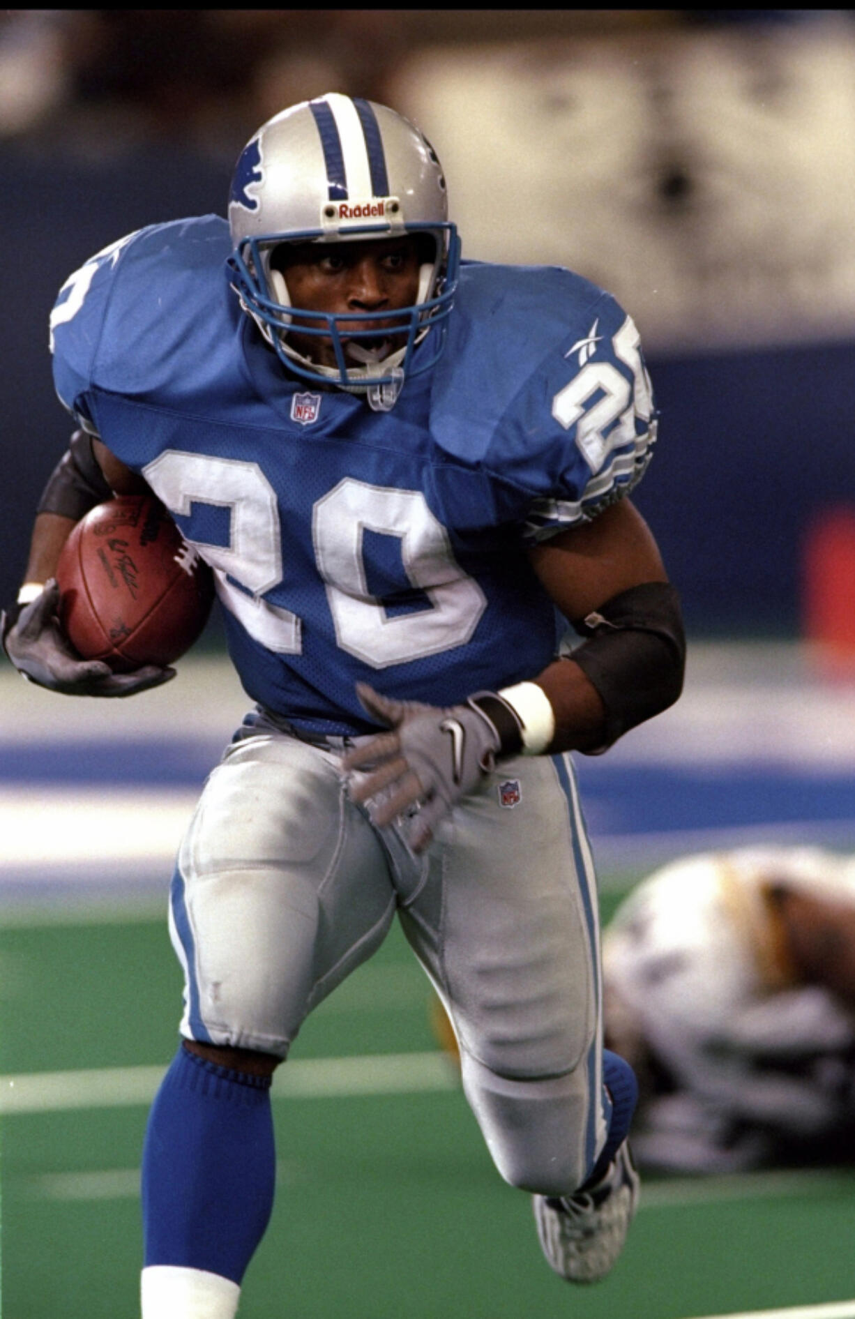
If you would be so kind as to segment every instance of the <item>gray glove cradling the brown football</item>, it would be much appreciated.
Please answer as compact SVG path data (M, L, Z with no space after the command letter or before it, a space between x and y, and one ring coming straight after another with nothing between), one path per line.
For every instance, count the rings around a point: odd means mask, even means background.
M58 603L59 587L51 578L30 604L0 615L4 650L29 682L69 696L132 696L175 677L174 669L156 665L112 673L102 660L80 660L59 627Z

